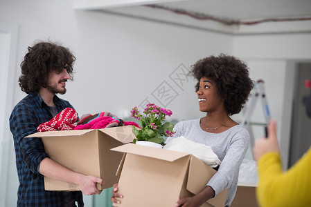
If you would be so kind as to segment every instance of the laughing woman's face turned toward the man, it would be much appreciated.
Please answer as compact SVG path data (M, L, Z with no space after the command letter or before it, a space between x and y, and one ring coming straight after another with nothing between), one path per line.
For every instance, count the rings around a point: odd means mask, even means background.
M199 110L202 112L213 112L224 108L224 101L218 95L216 83L208 77L199 80L197 98Z

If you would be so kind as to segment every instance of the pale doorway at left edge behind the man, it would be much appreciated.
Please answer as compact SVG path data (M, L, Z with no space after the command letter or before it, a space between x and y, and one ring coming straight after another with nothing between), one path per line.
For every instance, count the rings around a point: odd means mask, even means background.
M16 190L10 188L10 149L11 134L8 124L8 117L12 111L14 75L17 50L17 31L15 25L0 23L0 206L16 205ZM17 179L17 174L16 174ZM14 191L13 191L14 190ZM16 198L15 198L16 197Z

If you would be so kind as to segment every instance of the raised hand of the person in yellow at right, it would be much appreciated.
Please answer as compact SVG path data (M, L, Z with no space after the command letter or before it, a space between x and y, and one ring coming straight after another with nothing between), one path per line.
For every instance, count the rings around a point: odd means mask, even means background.
M278 139L276 137L276 121L269 122L267 127L268 136L257 139L253 148L254 159L258 161L267 152L280 153L278 148Z

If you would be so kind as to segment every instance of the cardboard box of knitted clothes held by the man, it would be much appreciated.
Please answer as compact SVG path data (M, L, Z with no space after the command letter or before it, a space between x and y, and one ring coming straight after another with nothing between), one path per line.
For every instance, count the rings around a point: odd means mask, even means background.
M96 130L62 130L37 132L28 137L42 137L48 156L57 163L84 175L100 177L104 185L98 190L110 188L118 182L116 170L121 153L110 150L132 142L135 135L132 126L120 126ZM44 177L45 190L80 190L78 185Z

